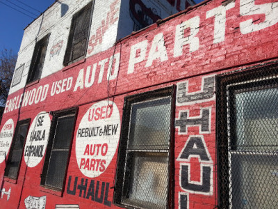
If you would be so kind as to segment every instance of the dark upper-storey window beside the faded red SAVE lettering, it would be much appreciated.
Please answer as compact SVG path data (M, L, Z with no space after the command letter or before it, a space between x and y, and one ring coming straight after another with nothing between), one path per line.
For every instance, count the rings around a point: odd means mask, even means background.
M95 2L95 1L94 1ZM89 3L72 17L70 36L67 40L64 65L83 59L88 45L93 3Z

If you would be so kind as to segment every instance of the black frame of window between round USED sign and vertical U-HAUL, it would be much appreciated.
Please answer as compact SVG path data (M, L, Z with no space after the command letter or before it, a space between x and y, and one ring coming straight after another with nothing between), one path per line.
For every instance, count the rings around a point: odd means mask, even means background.
M129 206L122 203L122 197L124 196L122 188L124 187L124 173L126 169L127 151L126 144L128 144L129 127L131 120L131 107L132 104L138 102L147 102L149 100L159 100L161 98L170 97L170 134L169 134L169 145L167 153L167 206L166 208L174 208L174 110L175 110L175 96L176 86L168 86L165 88L156 89L145 93L138 93L136 95L130 95L124 98L124 109L122 114L122 128L120 135L120 143L117 153L117 169L115 173L115 185L113 193L113 203L115 206L121 208L136 208L136 206ZM147 152L152 153L152 152ZM158 152L164 153L164 152ZM138 206L138 208L141 208Z

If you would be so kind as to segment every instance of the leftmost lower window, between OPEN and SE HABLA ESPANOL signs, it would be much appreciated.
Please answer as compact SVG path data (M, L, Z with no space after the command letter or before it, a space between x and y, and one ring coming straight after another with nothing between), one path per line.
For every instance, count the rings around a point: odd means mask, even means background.
M8 178L17 179L19 167L22 162L22 150L26 141L30 120L19 121L15 128L10 153L6 163L5 176Z

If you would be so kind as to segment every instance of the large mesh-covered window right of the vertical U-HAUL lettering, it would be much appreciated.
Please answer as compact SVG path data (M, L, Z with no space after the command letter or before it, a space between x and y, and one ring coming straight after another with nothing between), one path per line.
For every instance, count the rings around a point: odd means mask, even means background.
M220 208L278 208L278 65L218 77Z

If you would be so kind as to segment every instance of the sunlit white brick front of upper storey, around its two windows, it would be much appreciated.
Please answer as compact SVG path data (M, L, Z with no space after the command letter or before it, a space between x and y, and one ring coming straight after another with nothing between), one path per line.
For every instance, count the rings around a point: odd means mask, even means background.
M115 0L95 0L95 8L92 13L92 25L90 29L90 36L95 34L96 29L101 26L101 20L106 17L106 13L110 9L110 4ZM65 50L67 47L67 38L70 33L70 25L72 22L72 16L85 5L87 5L90 0L62 0L54 3L48 10L46 10L38 19L32 22L24 30L24 36L22 39L22 44L19 49L18 59L16 68L24 64L24 72L22 75L22 81L20 84L10 88L10 93L14 93L20 88L24 88L26 84L26 79L28 77L28 70L30 68L31 59L33 56L33 51L35 48L36 40L42 39L48 33L50 33L49 43L47 46L47 54L44 60L44 66L42 69L41 78L47 77L54 72L57 72L63 68L63 59L65 56ZM119 1L120 2L120 1ZM61 17L62 4L68 6L67 13ZM118 3L117 8L120 8L120 3ZM119 9L120 10L120 9ZM115 15L118 16L119 12ZM117 19L118 20L118 19ZM89 36L89 38L90 38ZM103 43L97 46L93 53L97 54L102 52L109 47L112 47L117 36L117 22L108 29L103 37ZM59 54L51 56L51 47L56 45L56 42L63 40L63 46L60 49ZM89 54L87 54L89 56Z

